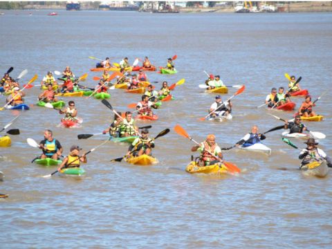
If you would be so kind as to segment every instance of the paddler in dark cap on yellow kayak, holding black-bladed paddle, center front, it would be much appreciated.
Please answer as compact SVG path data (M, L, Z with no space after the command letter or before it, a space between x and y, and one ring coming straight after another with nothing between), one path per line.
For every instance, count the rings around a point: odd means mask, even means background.
M151 149L154 148L154 140L149 138L148 134L148 129L142 129L141 136L133 140L133 143L129 146L127 156L130 154L133 156L142 156L142 154L151 156Z

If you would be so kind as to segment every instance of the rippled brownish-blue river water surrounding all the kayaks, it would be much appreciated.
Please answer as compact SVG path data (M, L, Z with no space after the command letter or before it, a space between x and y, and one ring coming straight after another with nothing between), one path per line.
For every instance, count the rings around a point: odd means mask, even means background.
M86 86L94 87L89 56L149 56L157 66L178 55L176 75L148 73L151 81L170 84L185 78L174 91L176 100L156 110L150 136L165 128L171 132L156 140L154 156L159 163L137 167L111 163L123 156L127 145L108 142L88 156L86 176L80 180L58 175L42 178L55 167L39 167L30 160L39 150L26 138L42 140L52 129L68 154L71 145L89 150L101 137L77 140L80 133L100 133L113 114L99 100L75 98L79 129L57 127L61 116L50 109L32 107L11 128L12 147L0 148L0 170L6 175L0 192L1 248L328 248L331 246L331 175L308 178L298 170L299 151L281 140L282 131L268 133L267 156L231 149L224 158L241 168L238 176L192 175L190 140L173 130L181 126L195 140L216 134L221 147L237 142L252 125L267 131L282 122L257 106L270 89L286 87L284 73L302 76L300 85L313 99L331 91L331 13L278 14L179 14L139 12L65 12L49 17L46 11L6 11L0 16L0 68L10 66L17 76L25 68L27 82L37 82L47 71L71 66L75 75L89 73ZM203 70L221 75L226 84L245 84L233 98L233 119L202 122L214 95L198 88L206 79ZM156 84L159 88L161 83ZM26 91L26 102L35 104L39 89ZM230 89L223 100L236 89ZM65 101L71 99L65 99ZM140 100L122 90L111 91L109 100L117 111ZM297 108L302 98L293 98ZM5 97L0 96L1 105ZM320 148L332 156L331 99L324 95L315 110L323 122L306 123L312 131L326 134ZM281 118L293 112L273 111ZM17 113L0 112L3 127ZM147 122L139 122L140 126ZM329 128L330 127L330 128ZM293 140L300 148L303 140ZM329 246L330 245L330 246Z

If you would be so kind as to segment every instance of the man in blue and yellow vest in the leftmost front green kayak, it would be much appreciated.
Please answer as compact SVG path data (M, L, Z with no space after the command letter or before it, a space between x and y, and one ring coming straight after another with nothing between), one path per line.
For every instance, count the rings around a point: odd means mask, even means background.
M39 149L42 149L43 154L41 159L52 158L57 160L62 155L62 146L60 142L53 138L53 132L51 130L44 131L44 140L39 142Z

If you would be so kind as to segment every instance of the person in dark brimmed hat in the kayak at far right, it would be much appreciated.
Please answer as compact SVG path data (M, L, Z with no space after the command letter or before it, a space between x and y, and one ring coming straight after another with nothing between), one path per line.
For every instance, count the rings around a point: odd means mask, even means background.
M305 167L308 163L322 162L323 160L326 160L327 165L332 167L331 158L327 156L322 149L317 148L318 142L315 142L314 138L309 138L304 143L307 146L306 149L302 149L299 154L299 159L302 160L301 166L299 167L300 169L303 169L303 167Z

